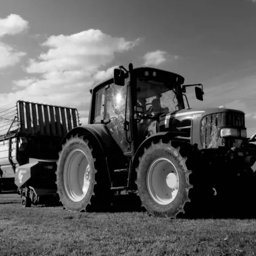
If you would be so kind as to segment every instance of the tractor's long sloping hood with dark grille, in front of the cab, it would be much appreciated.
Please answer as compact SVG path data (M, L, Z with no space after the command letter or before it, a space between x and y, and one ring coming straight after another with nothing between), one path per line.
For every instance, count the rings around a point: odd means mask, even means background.
M218 148L219 130L224 127L246 130L244 112L224 107L190 108L169 112L159 119L159 129L182 132L180 138L199 148Z

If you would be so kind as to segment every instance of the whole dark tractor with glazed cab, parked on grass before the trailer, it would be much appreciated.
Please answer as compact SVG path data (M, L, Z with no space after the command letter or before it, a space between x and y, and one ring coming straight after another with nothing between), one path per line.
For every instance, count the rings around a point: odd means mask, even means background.
M64 208L106 211L113 193L127 191L152 216L252 210L255 138L244 112L190 108L186 88L202 101L203 85L183 84L179 74L130 63L90 90L88 124L69 130L57 161Z

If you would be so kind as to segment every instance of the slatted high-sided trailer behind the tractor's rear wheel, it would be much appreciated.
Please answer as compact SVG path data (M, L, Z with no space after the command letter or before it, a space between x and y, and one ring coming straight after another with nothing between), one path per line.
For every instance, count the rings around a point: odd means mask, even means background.
M0 193L18 187L24 207L55 196L61 141L79 125L76 108L27 101L0 108Z

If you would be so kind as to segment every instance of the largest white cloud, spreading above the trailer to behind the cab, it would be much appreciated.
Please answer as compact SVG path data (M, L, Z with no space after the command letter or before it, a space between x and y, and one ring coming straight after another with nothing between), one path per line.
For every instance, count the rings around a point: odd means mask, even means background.
M73 35L52 35L41 44L43 51L37 59L28 60L24 68L27 77L13 81L12 93L0 94L0 102L23 99L77 107L80 117L87 118L90 88L112 76L116 66L108 66L116 54L127 52L139 43L140 38L128 41L94 29Z

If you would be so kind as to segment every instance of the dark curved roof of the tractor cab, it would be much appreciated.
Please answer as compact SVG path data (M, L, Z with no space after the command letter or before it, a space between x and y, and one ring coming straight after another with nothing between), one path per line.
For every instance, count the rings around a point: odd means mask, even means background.
M157 80L174 80L176 82L179 82L180 85L182 85L184 83L184 77L180 76L179 74L176 73L172 73L169 71L165 71L163 69L157 69L157 68L150 68L150 67L140 67L140 68L133 68L133 72L135 73L135 76L137 77L146 77L145 76L145 72L148 71L149 72L149 78L153 78L153 79L157 79ZM153 72L155 71L156 76L153 76ZM125 78L127 78L129 76L128 73L124 74ZM108 84L112 84L114 82L114 78L110 78L110 79L106 79L103 80L101 82L99 82L98 84L94 85L93 88L91 88L91 90L96 90L98 87L102 87L104 85L108 85Z

